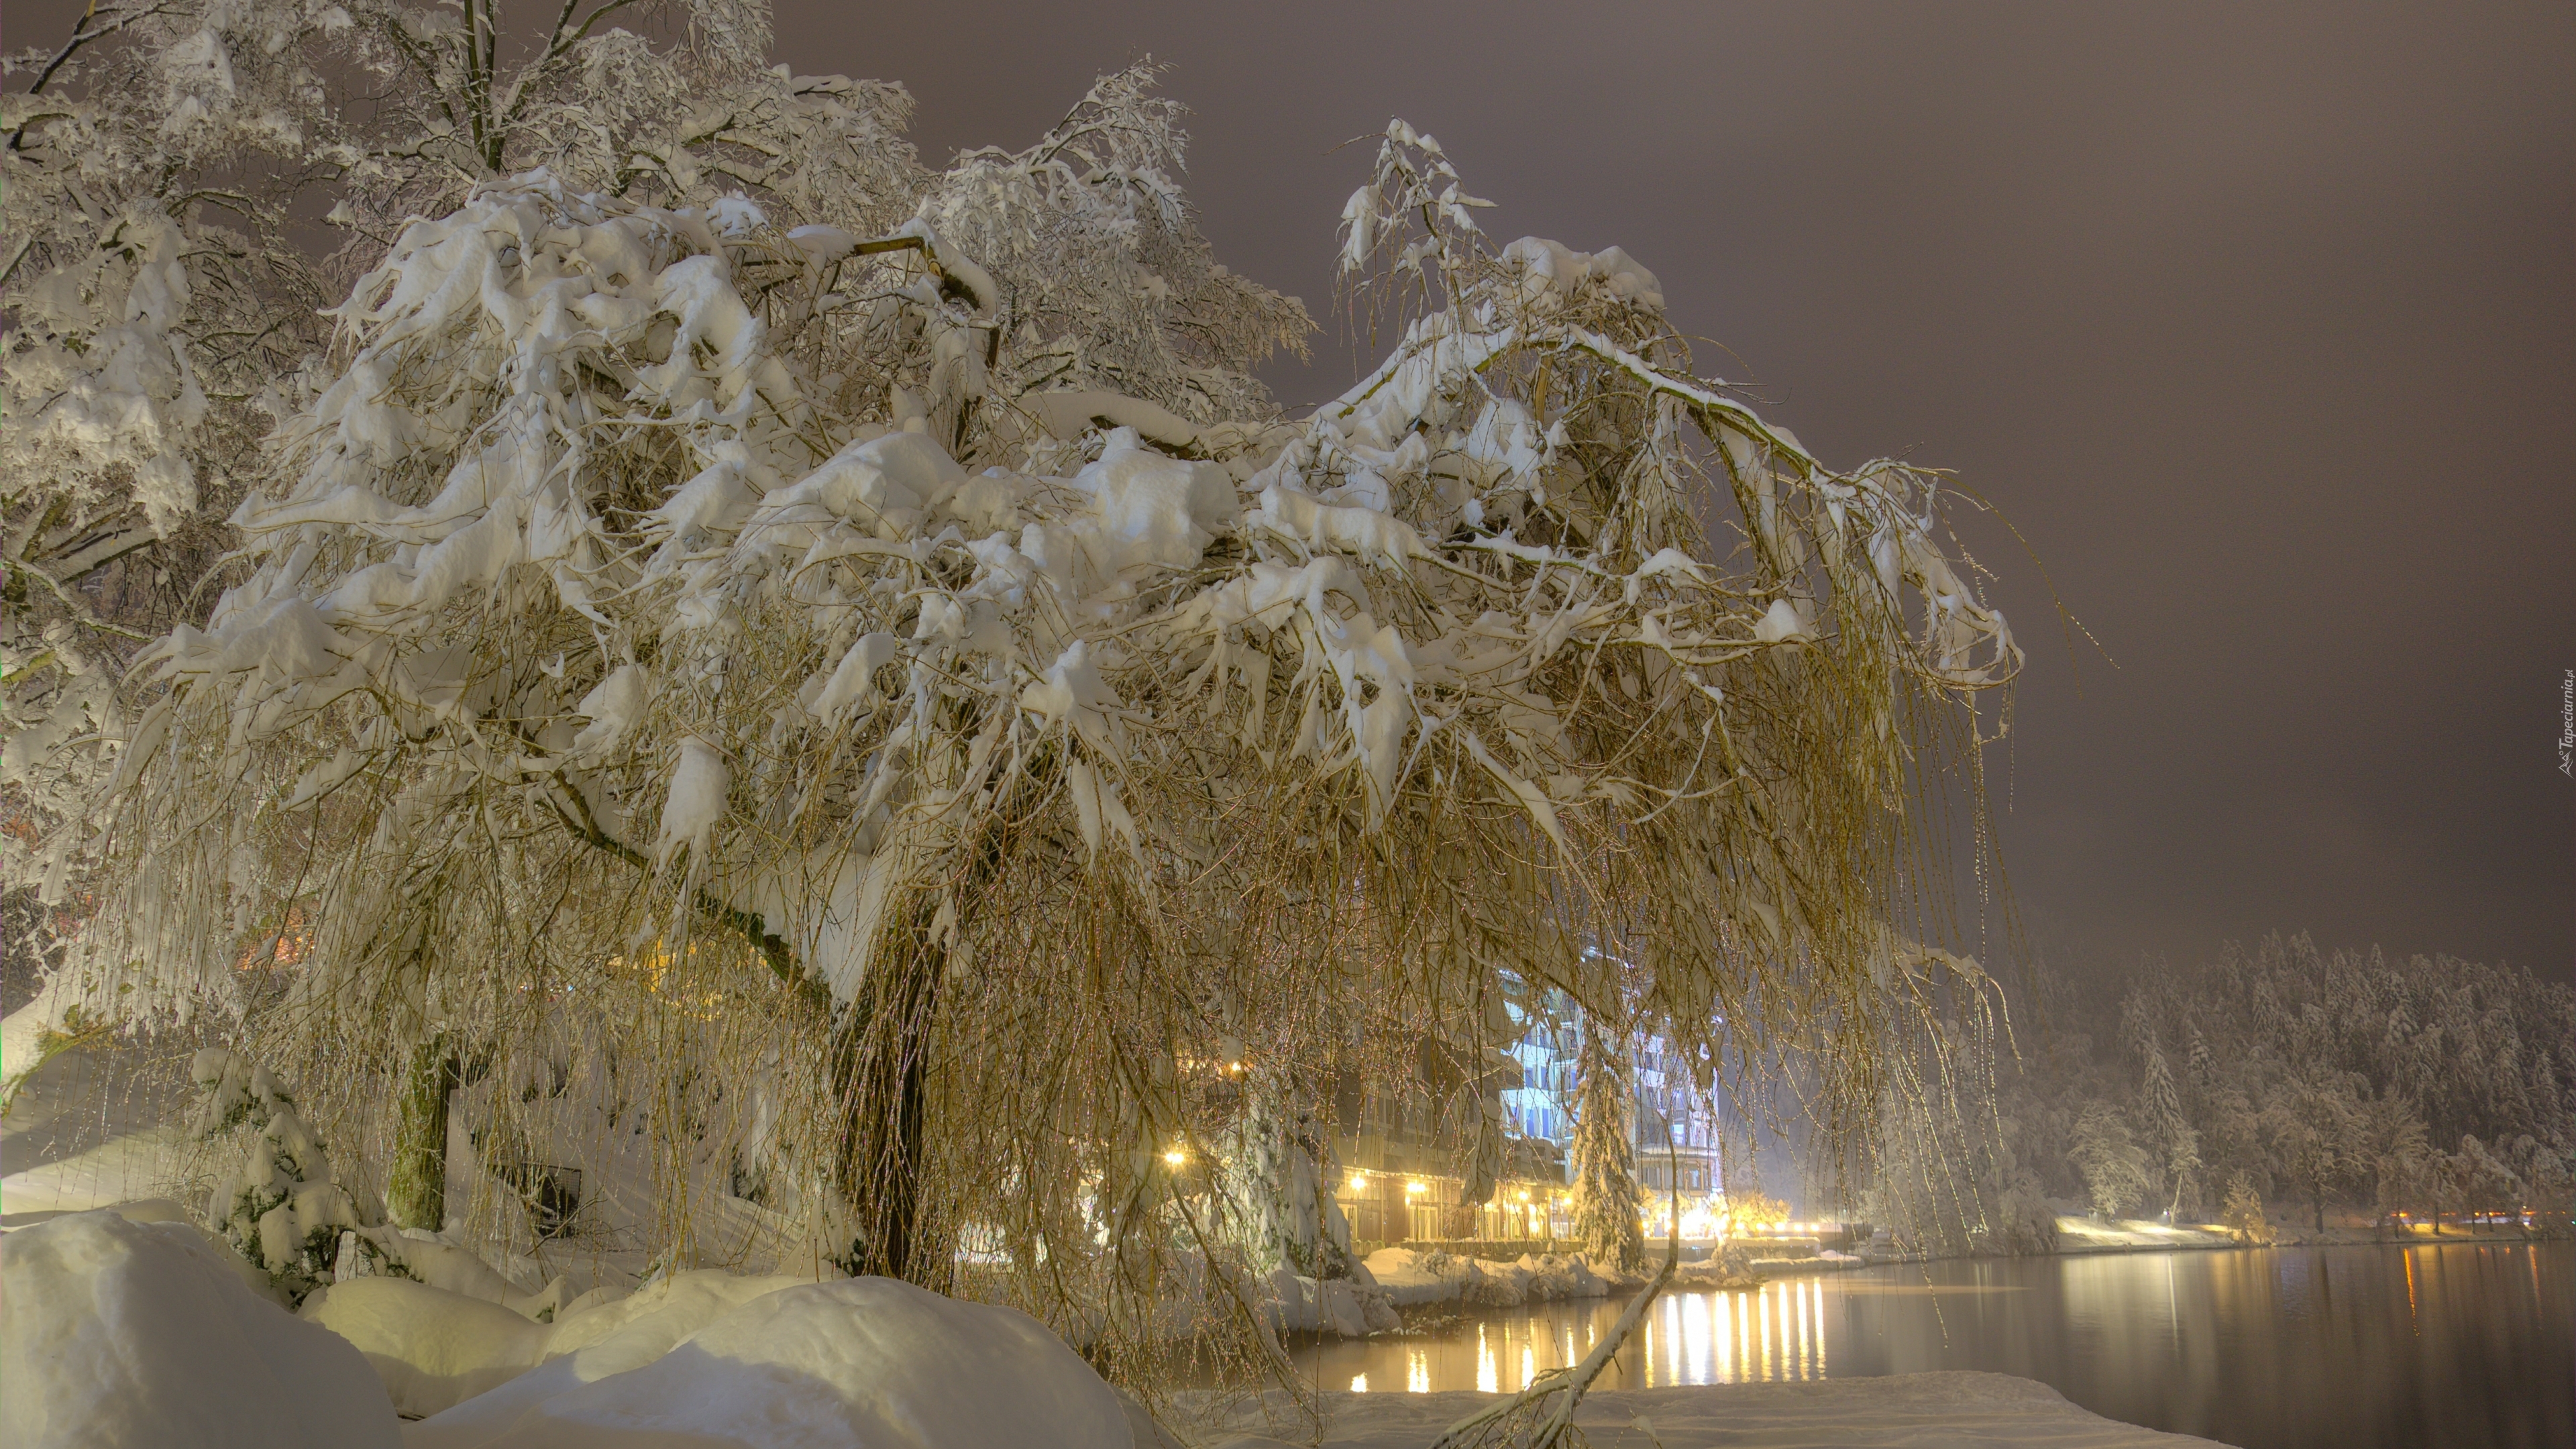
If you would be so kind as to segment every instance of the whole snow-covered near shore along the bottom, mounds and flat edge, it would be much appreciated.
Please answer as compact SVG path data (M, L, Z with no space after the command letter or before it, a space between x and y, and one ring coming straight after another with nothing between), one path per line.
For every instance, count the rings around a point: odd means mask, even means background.
M291 1315L185 1222L80 1212L10 1232L0 1421L13 1444L142 1449L1417 1449L1489 1395L1172 1395L1157 1423L1036 1320L894 1279L690 1271L554 1323L407 1279ZM402 1418L397 1418L397 1413ZM410 1421L410 1423L404 1423ZM1605 1390L1595 1444L2205 1444L2004 1374ZM1177 1436L1188 1434L1188 1439ZM822 1439L817 1439L822 1431ZM1273 1434L1285 1434L1275 1439Z

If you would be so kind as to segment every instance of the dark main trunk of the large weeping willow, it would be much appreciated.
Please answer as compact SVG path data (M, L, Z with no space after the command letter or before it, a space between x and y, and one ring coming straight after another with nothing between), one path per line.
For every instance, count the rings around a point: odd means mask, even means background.
M832 1091L840 1098L840 1191L855 1240L850 1271L945 1281L945 1256L922 1232L922 1124L930 1026L948 951L930 936L925 897L886 941L858 1000L832 1029Z

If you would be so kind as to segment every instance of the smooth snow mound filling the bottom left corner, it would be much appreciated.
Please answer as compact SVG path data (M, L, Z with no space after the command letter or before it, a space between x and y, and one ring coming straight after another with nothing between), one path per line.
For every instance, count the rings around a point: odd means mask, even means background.
M345 1338L299 1323L183 1222L80 1212L0 1243L13 1449L399 1449Z

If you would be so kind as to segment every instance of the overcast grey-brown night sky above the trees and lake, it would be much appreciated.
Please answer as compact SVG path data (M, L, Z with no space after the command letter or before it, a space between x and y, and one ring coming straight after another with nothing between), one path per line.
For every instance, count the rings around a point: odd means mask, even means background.
M1953 467L2032 647L2043 941L2576 954L2576 8L788 0L925 160L1154 54L1218 255L1329 327L1391 113L1497 240L1623 245L1837 467ZM1332 333L1283 402L1352 374ZM1728 356L1731 353L1731 356Z

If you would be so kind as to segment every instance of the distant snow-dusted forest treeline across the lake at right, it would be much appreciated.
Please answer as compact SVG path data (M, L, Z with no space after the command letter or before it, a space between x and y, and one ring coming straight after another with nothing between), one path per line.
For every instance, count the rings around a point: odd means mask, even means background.
M1891 1104L1880 1220L2027 1253L2087 1209L2313 1230L2532 1209L2563 1232L2576 1207L2576 990L2530 969L2272 936L2192 967L2035 964L2012 1031L1955 1109Z

